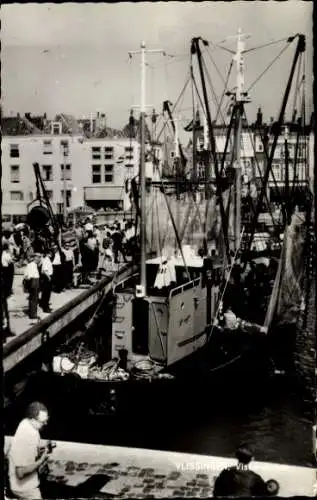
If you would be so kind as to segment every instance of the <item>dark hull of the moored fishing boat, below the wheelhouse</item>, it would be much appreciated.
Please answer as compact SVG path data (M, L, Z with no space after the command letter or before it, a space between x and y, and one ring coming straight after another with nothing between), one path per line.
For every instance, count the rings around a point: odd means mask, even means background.
M235 385L241 395L254 380L260 387L272 373L266 344L265 337L217 331L203 349L168 369L173 378L108 381L43 372L35 377L32 394L50 404L53 395L54 411L60 409L70 418L132 414L145 418L173 409L179 412L189 401L192 406L210 393L231 392Z

